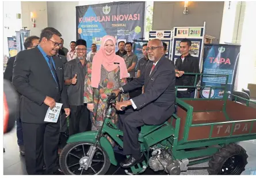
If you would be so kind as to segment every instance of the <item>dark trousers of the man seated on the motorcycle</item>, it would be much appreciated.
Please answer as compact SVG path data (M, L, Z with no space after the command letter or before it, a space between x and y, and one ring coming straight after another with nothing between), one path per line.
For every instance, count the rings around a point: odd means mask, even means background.
M145 125L142 116L129 106L129 109L119 114L119 129L124 132L124 155L132 155L135 159L140 158L139 132Z

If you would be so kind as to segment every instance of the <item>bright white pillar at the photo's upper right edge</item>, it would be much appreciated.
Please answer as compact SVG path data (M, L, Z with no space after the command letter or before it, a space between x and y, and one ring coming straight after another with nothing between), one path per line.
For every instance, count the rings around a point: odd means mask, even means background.
M256 84L255 9L256 2L246 2L238 66L238 90L247 88L249 83Z

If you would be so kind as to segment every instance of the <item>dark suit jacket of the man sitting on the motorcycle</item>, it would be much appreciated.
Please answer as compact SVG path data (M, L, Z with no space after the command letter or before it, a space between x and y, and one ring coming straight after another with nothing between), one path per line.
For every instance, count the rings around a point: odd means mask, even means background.
M155 125L165 122L174 113L175 102L175 70L170 61L162 57L150 74L153 62L150 62L145 72L139 78L123 86L128 92L144 85L144 93L135 98L145 124Z

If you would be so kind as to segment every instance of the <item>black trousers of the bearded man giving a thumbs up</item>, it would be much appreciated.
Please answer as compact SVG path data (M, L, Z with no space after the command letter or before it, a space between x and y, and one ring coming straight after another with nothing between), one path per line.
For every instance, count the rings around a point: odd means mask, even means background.
M90 130L90 112L87 109L87 104L82 106L70 105L70 125L69 135L74 135L80 132Z

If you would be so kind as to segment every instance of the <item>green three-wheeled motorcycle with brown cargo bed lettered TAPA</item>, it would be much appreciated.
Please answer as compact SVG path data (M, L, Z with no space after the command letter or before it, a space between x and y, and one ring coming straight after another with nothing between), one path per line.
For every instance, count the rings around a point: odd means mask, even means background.
M194 73L190 73L194 74ZM205 74L194 74L196 78ZM176 112L161 125L144 125L139 134L144 161L125 170L128 175L143 173L148 167L179 175L191 165L208 161L209 175L240 175L247 164L246 151L239 141L256 139L256 102L227 92L225 86L176 86L208 91L208 98L177 98ZM211 98L214 89L223 89L222 98ZM229 97L235 97L231 101ZM243 100L245 104L236 102ZM123 148L123 132L110 120L116 96L108 97L101 129L71 136L60 154L60 167L66 175L104 175L110 164L118 165L107 137ZM79 148L81 152L77 152ZM203 169L203 168L202 168Z

